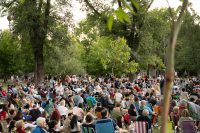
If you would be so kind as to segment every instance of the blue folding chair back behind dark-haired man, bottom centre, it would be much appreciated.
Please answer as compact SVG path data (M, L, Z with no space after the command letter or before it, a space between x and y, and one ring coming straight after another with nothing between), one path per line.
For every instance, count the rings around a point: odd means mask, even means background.
M97 120L95 127L97 129L98 133L115 133L114 130L114 126L113 126L113 122L110 120L110 122L104 122L103 121L107 121L107 119L101 119L101 120Z

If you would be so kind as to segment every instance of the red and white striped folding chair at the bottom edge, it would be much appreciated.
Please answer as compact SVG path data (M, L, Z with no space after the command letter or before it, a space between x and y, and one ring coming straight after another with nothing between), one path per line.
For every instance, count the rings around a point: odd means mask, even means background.
M148 128L148 122L136 121L135 123L136 133L151 133L151 129Z

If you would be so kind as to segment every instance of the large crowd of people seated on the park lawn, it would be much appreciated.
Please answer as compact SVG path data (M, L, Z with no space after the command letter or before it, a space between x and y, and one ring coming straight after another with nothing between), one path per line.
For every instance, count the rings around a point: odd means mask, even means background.
M90 79L90 80L89 80ZM0 104L0 118L9 132L78 133L82 129L97 130L96 123L111 122L119 133L134 133L136 123L146 122L150 132L157 127L162 111L163 80L143 79L135 82L109 78L76 78L67 76L65 85L52 78L41 85L22 83L9 85L2 95L7 103ZM162 83L162 84L160 84ZM199 81L174 80L169 116L176 117L175 126L183 129L182 121L200 121ZM6 93L6 94L5 94ZM170 119L168 119L170 121Z

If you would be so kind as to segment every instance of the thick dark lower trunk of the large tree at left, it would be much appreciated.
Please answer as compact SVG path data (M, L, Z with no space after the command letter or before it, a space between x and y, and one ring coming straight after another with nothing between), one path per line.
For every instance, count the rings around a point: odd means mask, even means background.
M39 50L34 52L35 60L35 72L34 80L35 85L42 84L44 82L44 62L43 62L43 45L38 46Z

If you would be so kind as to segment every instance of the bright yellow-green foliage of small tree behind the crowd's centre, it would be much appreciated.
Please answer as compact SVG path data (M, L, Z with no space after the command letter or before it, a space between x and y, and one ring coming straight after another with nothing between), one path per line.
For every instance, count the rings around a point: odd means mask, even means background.
M130 61L129 51L130 48L126 45L124 38L117 40L111 37L98 38L92 44L89 53L89 70L91 73L101 70L99 74L112 73L115 75L135 72L137 63Z

